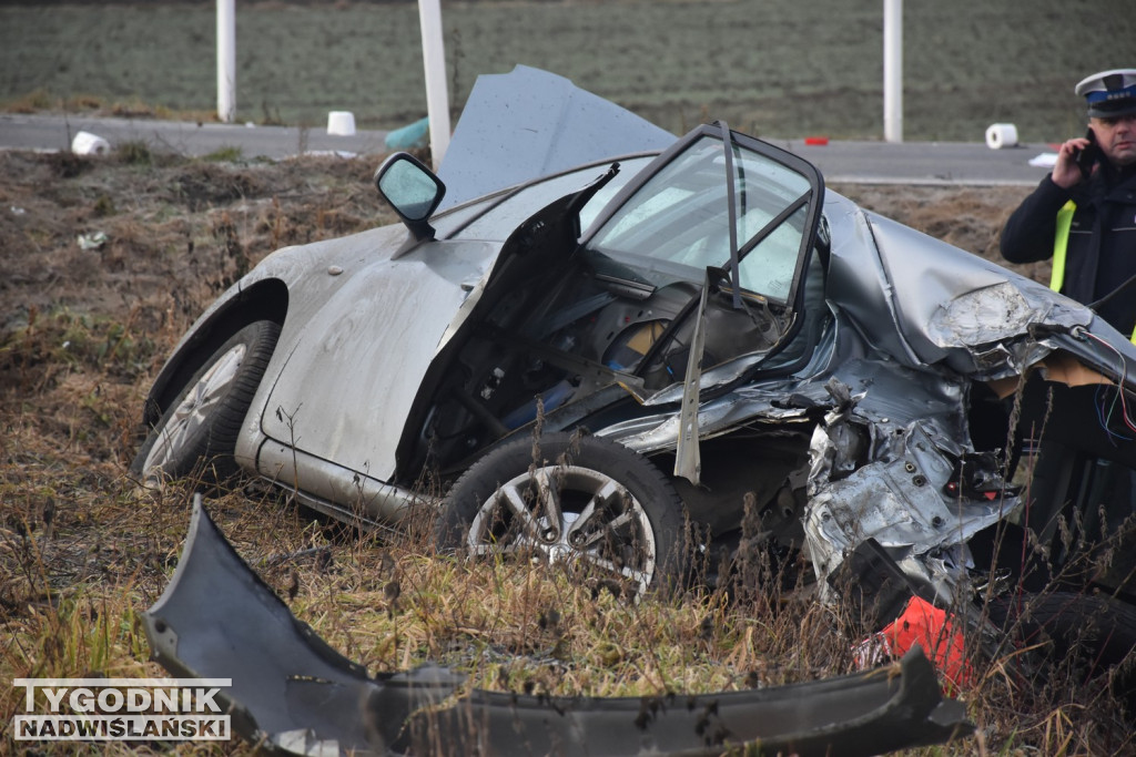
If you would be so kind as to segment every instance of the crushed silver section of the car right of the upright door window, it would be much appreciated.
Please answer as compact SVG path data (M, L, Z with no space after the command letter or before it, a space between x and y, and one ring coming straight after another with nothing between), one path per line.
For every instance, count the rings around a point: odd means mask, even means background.
M790 376L758 364L740 385L736 365L702 376L700 444L760 473L703 471L680 490L695 518L735 527L749 494L783 547L804 547L826 596L872 540L951 606L989 570L968 541L1025 503L1010 483L1014 392L1035 372L1130 392L1136 350L1087 308L835 193L825 218L825 295L811 304L825 325L808 363ZM657 413L598 432L667 460L679 402L662 393Z

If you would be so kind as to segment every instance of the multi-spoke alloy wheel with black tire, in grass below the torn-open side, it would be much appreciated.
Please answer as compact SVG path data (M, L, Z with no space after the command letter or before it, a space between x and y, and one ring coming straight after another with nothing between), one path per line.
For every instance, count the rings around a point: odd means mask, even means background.
M637 598L683 578L685 524L675 488L645 457L608 439L550 434L538 445L512 441L466 471L442 504L435 539L470 555L563 563Z

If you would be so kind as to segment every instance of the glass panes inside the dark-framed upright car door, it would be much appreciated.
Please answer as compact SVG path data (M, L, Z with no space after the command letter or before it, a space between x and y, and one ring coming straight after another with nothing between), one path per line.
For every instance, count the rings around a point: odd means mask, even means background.
M733 150L742 288L784 302L808 230L809 178L743 144ZM616 211L588 247L701 283L707 267L729 262L728 210L721 140L703 135Z

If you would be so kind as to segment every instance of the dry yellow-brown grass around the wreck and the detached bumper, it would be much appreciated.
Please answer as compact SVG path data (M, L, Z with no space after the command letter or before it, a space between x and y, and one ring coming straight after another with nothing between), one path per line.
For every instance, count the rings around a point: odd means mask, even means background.
M232 165L139 152L0 154L10 271L0 285L10 303L0 323L0 679L160 674L137 613L176 565L194 486L154 495L125 473L147 387L192 318L245 266L275 246L385 218L369 185L374 161ZM80 251L76 235L92 228L107 244ZM208 507L293 612L371 672L431 659L481 688L618 696L853 670L854 624L807 590L754 590L778 584L760 555L743 571L760 580L744 587L633 604L527 562L440 557L421 533L360 535L258 485ZM1009 672L1016 657L976 663L975 681L955 692L979 738L927 754L1131 748L1103 687L1076 672L1026 687ZM15 695L0 688L5 723ZM18 751L0 738L0 751ZM74 748L36 745L41 754Z

